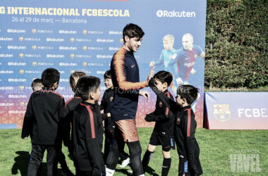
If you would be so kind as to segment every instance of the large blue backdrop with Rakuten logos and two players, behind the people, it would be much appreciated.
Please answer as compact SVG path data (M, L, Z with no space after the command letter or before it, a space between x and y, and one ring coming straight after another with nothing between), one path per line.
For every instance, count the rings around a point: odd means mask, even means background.
M65 101L73 98L69 79L78 70L99 77L103 95L104 73L123 45L123 27L134 23L145 32L134 53L140 81L155 66L155 73L173 75L169 91L174 97L182 84L197 87L200 97L192 108L202 127L206 5L206 0L1 1L0 124L22 127L32 80L46 68L61 73L56 92ZM142 90L150 100L139 98L137 127L153 127L145 115L154 111L157 96L149 87Z

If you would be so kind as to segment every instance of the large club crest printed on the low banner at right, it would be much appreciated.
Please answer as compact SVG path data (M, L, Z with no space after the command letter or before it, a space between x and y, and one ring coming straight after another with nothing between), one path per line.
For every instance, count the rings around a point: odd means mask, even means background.
M221 122L225 122L230 120L231 118L231 111L229 110L229 104L213 104L214 107L214 118Z

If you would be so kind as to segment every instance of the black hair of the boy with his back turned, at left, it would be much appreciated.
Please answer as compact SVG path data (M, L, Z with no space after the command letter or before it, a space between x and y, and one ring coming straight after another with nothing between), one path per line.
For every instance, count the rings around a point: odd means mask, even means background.
M56 82L59 83L59 71L55 68L47 68L42 73L42 84L44 87L52 87Z

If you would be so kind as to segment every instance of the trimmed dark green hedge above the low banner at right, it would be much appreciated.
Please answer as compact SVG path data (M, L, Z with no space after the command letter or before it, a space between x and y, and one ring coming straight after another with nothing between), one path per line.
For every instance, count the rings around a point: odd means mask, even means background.
M206 87L267 87L267 55L267 1L207 0Z

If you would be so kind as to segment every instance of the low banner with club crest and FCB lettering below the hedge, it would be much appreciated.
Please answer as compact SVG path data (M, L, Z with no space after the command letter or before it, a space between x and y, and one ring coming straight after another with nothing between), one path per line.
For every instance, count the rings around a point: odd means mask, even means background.
M205 93L208 128L268 130L267 92Z

